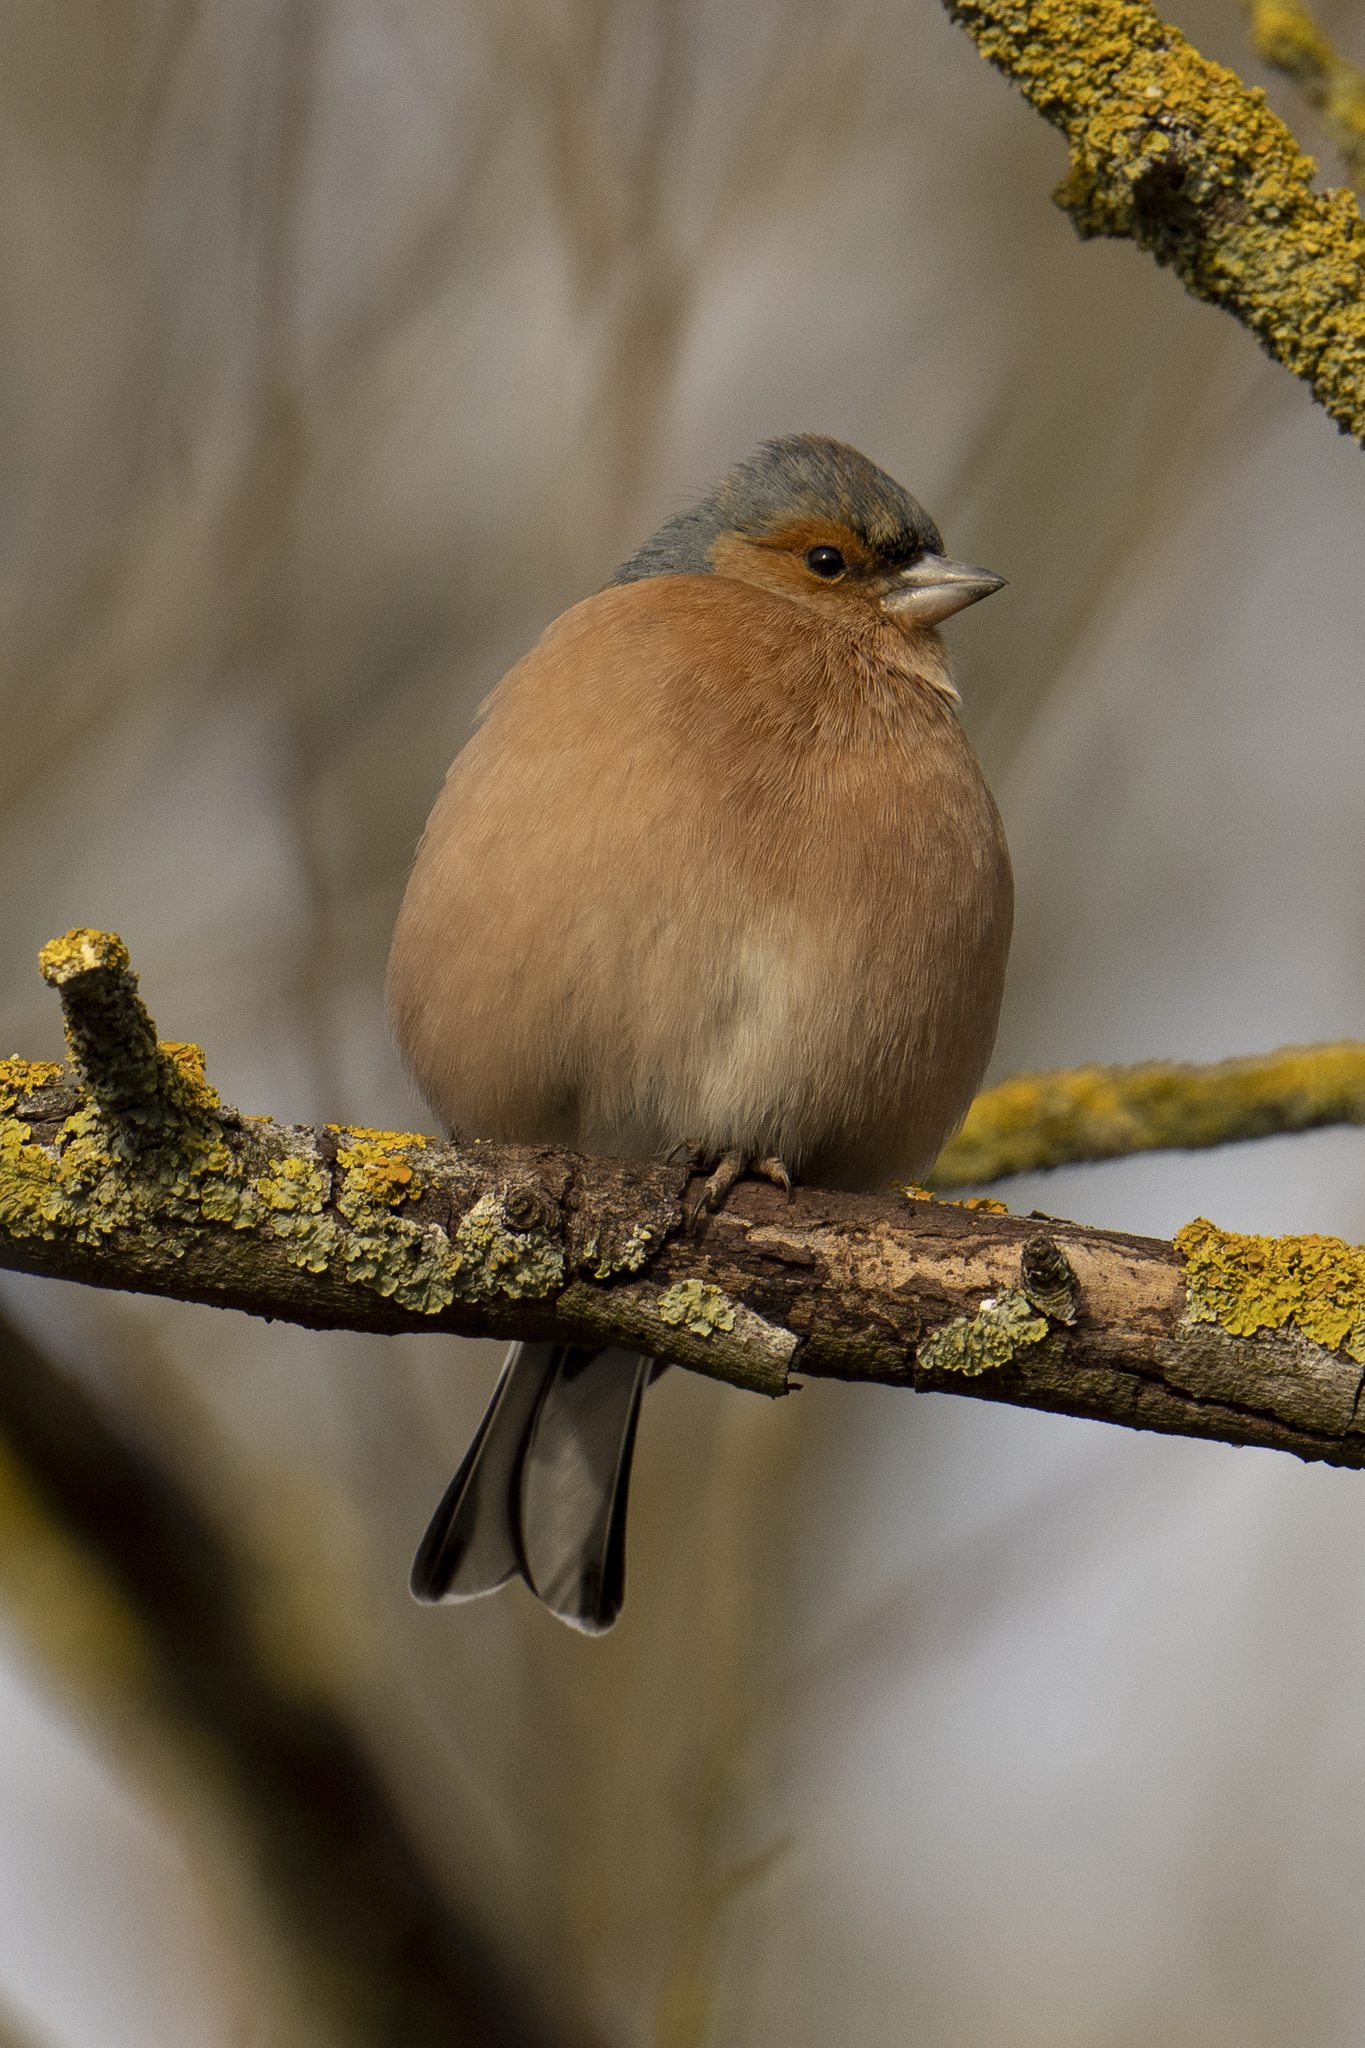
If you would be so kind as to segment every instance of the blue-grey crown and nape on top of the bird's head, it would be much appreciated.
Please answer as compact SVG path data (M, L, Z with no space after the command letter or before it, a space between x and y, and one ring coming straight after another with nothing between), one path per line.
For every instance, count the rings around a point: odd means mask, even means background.
M925 508L894 477L857 449L825 434L786 434L765 440L716 487L675 512L622 563L614 584L647 575L706 575L710 551L722 532L755 541L800 518L831 518L849 526L878 559L909 561L943 539Z

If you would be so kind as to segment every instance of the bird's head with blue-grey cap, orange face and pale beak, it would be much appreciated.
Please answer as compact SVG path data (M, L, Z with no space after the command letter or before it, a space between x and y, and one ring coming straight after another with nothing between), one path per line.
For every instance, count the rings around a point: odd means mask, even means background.
M729 575L831 618L872 610L905 629L933 627L1005 582L945 555L909 492L823 434L765 440L612 582L647 575Z

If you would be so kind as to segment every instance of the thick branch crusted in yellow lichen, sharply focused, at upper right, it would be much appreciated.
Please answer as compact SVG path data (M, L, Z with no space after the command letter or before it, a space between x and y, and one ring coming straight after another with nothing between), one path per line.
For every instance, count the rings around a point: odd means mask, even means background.
M1365 221L1314 188L1265 94L1148 0L945 0L1066 137L1056 190L1083 236L1126 236L1222 305L1365 440Z

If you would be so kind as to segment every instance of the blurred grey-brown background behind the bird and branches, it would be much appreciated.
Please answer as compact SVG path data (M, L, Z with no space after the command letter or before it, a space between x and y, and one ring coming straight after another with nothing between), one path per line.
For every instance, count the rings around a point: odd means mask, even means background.
M1181 27L1269 82L1232 0ZM35 952L108 926L229 1100L420 1122L383 958L475 707L796 428L1011 582L950 629L1019 883L997 1071L1365 1032L1361 451L1074 240L1058 137L933 0L14 0L0 53L0 1051L59 1051ZM1365 1237L1353 1133L1007 1192ZM2 1300L196 1503L546 2040L1361 2040L1359 1477L671 1374L587 1642L407 1599L493 1348ZM10 1462L12 2040L397 2038L280 1942L192 1735L51 1653Z

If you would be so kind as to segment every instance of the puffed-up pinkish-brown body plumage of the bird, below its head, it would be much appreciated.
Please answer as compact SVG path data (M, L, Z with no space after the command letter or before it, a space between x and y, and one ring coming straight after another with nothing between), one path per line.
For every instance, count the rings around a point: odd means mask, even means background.
M442 1120L923 1171L990 1057L1011 920L935 639L700 575L559 618L454 762L393 942Z

